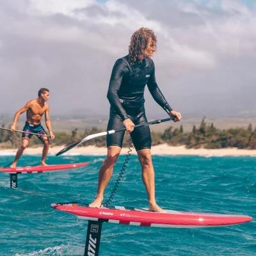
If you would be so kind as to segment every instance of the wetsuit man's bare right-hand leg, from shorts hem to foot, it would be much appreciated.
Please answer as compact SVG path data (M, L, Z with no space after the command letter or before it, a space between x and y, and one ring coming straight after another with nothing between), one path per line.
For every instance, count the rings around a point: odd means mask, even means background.
M142 180L145 184L148 195L148 211L165 212L156 204L155 197L155 173L152 164L152 157L149 148L138 150L137 152L142 171Z

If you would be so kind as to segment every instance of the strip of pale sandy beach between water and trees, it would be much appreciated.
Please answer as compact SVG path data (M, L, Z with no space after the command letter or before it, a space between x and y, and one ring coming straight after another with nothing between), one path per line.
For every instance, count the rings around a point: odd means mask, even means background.
M65 146L50 147L49 156L55 155ZM121 154L126 155L129 148L122 148ZM17 148L0 149L0 156L15 155ZM256 156L256 150L249 149L237 149L237 148L218 148L218 149L206 149L206 148L185 148L182 146L169 146L166 143L156 145L151 148L152 155L166 155L166 156ZM26 155L38 155L42 154L42 147L28 147L24 151ZM106 156L106 147L76 147L65 153L63 156L74 155L103 155ZM132 155L136 154L136 150L132 147Z

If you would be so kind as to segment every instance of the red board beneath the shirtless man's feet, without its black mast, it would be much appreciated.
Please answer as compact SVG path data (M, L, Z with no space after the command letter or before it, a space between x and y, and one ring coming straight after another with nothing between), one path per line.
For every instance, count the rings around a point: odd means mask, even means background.
M60 171L72 168L78 168L86 166L89 163L76 163L76 164L54 164L46 166L25 166L25 167L15 167L15 168L0 168L0 172L4 173L40 173L40 172L52 172Z

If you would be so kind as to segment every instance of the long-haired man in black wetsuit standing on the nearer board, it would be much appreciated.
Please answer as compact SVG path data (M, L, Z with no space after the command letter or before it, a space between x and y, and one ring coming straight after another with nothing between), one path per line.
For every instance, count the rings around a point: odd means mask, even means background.
M154 167L151 157L151 136L148 126L134 129L134 125L147 122L144 108L144 90L148 90L154 100L169 116L175 116L174 122L181 119L179 112L174 111L157 86L154 62L150 59L156 51L157 39L148 28L140 28L131 37L129 54L116 61L108 89L108 100L111 105L108 131L125 126L131 132L142 170L142 179L148 195L148 210L164 212L156 204ZM107 136L108 155L100 166L97 195L90 207L100 207L104 190L108 185L113 167L120 154L125 132L116 132Z

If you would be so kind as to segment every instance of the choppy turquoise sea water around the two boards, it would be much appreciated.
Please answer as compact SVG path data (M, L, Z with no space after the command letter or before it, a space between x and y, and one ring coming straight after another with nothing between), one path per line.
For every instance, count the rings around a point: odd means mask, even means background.
M0 156L0 166L13 156ZM125 156L116 164L105 199ZM86 220L51 208L54 202L91 202L104 156L49 156L48 164L90 162L61 172L21 174L11 189L0 173L0 255L83 255ZM40 156L22 156L36 165ZM256 158L153 156L160 206L179 211L244 214L256 218ZM140 164L131 156L114 205L147 207ZM104 223L100 255L256 255L255 220L217 228L150 228Z

